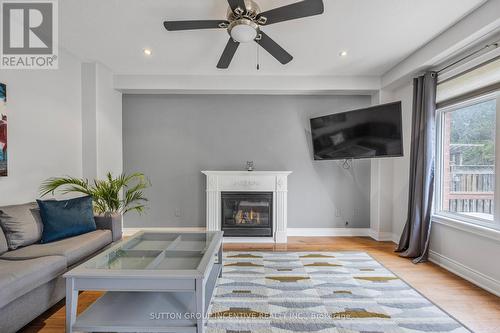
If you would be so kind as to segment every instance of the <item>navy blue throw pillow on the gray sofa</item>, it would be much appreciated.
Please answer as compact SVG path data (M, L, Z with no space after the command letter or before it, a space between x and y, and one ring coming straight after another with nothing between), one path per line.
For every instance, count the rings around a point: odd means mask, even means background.
M77 236L96 230L92 198L37 200L42 217L42 243Z

